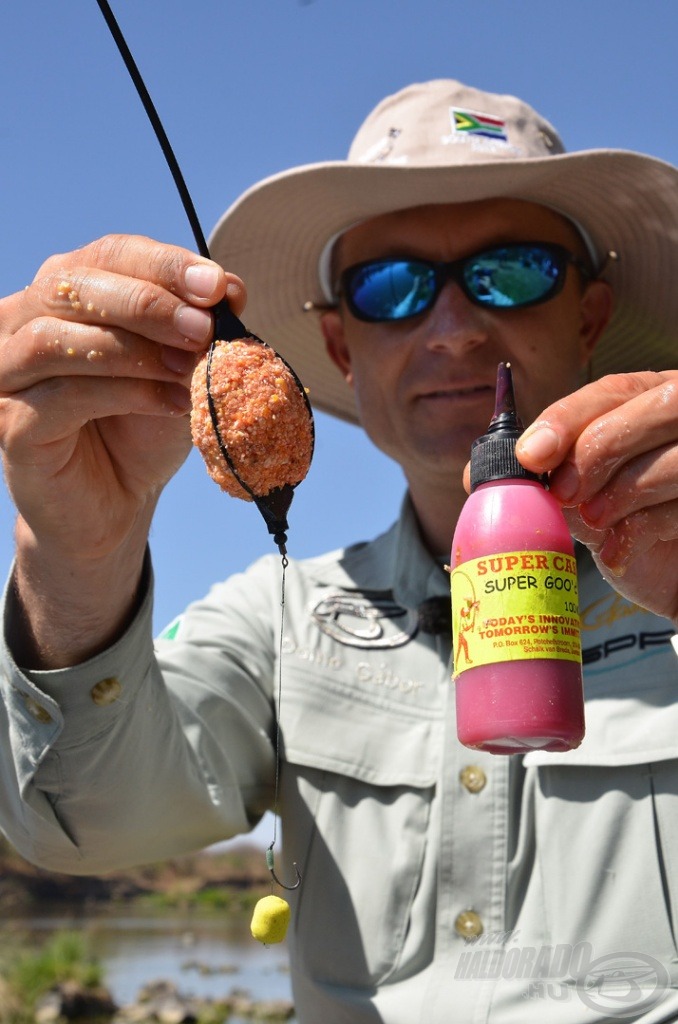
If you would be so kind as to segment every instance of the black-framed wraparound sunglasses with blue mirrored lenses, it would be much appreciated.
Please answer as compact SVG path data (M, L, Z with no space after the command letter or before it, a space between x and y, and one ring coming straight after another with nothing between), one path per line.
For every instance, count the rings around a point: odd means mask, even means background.
M340 278L342 295L362 321L400 321L430 309L448 281L455 281L476 306L523 309L547 302L562 290L569 264L591 273L563 246L520 242L451 263L388 256L355 263Z

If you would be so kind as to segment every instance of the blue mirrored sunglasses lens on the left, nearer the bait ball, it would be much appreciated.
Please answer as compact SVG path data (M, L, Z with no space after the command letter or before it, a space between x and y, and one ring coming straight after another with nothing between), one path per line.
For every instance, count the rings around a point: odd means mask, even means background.
M351 279L353 305L374 319L402 319L423 312L435 296L432 266L413 260L375 261Z

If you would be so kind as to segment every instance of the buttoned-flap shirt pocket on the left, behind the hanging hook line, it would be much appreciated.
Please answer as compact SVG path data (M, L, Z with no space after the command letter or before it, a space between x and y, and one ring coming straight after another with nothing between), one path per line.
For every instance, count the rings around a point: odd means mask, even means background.
M402 968L418 898L433 934L435 887L422 877L440 713L297 670L281 721L286 869L296 860L302 874L294 958L321 984L370 989Z

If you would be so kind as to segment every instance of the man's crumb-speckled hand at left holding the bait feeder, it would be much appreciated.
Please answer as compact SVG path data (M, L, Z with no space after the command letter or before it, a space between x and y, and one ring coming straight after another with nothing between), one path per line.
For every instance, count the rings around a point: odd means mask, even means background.
M244 286L217 264L111 236L52 257L0 301L0 447L19 513L28 667L82 660L129 617L158 497L190 447L209 307L224 297L238 315Z

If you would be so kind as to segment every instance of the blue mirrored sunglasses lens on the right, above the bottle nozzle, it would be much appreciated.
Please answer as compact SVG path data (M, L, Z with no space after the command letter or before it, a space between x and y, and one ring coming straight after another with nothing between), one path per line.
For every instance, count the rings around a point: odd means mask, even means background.
M512 246L467 260L466 292L484 306L511 308L540 302L558 283L562 260L546 249Z

